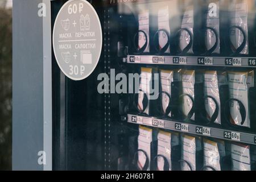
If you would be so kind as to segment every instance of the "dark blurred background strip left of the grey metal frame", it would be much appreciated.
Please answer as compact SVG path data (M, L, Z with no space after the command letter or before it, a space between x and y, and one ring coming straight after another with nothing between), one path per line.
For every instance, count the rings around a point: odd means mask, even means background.
M0 171L11 170L12 0L0 0Z

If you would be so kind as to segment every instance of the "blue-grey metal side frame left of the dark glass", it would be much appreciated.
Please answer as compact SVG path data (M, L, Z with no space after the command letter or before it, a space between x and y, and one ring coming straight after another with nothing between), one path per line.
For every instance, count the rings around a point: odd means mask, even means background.
M50 0L13 1L13 169L52 170Z

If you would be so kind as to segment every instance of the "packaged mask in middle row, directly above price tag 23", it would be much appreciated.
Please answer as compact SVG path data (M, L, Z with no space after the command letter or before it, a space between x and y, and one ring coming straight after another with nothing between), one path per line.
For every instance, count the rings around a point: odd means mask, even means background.
M195 120L193 102L195 99L195 71L183 71L182 73L182 111L188 119ZM192 112L192 113L191 113Z

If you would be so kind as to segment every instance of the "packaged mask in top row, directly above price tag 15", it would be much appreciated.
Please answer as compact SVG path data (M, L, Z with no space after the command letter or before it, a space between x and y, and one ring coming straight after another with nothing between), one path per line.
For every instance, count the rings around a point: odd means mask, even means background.
M234 53L249 54L248 44L248 2L233 0L230 10L230 42Z

